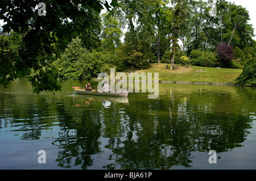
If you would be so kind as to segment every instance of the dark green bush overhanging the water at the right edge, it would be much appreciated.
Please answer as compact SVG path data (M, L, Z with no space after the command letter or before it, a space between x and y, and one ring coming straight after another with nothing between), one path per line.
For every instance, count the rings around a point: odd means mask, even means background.
M251 58L236 80L237 85L256 86L256 58Z

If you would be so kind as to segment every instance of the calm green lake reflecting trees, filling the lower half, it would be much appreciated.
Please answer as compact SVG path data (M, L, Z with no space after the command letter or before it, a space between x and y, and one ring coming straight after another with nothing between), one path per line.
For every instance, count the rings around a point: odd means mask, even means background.
M156 99L73 92L85 83L39 95L26 79L0 87L0 169L256 169L255 88L159 83Z

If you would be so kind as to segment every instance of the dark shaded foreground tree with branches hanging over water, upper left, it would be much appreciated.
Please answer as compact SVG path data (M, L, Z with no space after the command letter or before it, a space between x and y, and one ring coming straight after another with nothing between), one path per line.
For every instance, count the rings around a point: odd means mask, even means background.
M19 56L11 58L6 64L7 71L1 72L2 85L7 86L20 75L30 75L30 82L34 92L60 90L60 85L52 77L55 69L49 67L48 61L53 58L55 43L68 43L71 37L79 35L82 31L80 20L88 19L88 9L100 13L103 6L110 8L107 1L43 1L43 5L37 7L41 0L35 1L3 1L0 4L0 19L6 24L3 32L14 31L22 35ZM46 7L46 16L38 14L38 11ZM117 6L117 1L110 4ZM84 27L89 28L92 22L86 21ZM7 61L7 60L5 60ZM21 74L22 73L22 74Z

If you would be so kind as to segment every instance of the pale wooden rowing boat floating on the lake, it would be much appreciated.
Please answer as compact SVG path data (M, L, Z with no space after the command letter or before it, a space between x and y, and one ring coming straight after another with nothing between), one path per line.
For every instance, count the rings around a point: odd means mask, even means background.
M96 89L85 89L81 87L72 87L77 94L86 94L86 95L104 95L104 96L128 96L129 89L127 90L115 90L115 91L102 91Z

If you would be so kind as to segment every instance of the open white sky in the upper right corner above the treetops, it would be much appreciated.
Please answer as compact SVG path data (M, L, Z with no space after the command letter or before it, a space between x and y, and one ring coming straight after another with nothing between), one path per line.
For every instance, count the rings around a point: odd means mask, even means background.
M207 1L207 0L203 0ZM250 24L253 24L254 28L254 34L256 33L256 10L255 10L255 5L256 1L255 0L226 0L231 3L235 3L236 5L241 5L242 7L245 7L247 11L249 11L250 14ZM3 24L3 20L0 20L0 25ZM254 40L256 40L256 36L254 37Z

